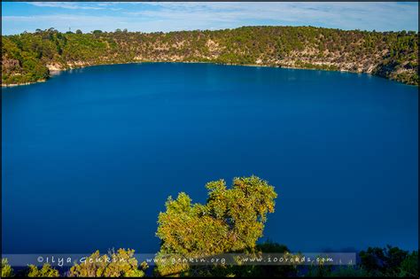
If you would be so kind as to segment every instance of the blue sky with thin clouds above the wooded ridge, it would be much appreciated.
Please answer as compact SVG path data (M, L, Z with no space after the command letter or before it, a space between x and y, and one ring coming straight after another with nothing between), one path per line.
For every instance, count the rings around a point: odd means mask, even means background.
M417 2L2 2L3 35L59 31L175 31L255 25L418 31Z

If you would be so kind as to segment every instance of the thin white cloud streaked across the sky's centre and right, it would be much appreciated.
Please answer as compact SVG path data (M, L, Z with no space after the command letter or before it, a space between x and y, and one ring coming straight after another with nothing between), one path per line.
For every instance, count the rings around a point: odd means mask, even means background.
M139 4L139 3L130 3ZM398 3L141 3L153 10L127 12L148 19L188 20L193 23L272 22L346 29L417 29L418 13L412 5ZM414 23L414 24L413 24ZM406 27L408 28L408 27Z

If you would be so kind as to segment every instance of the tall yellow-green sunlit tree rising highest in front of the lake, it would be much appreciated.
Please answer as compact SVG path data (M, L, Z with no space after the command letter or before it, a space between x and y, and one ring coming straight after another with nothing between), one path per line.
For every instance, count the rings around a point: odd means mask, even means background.
M229 190L223 180L209 182L206 188L206 205L192 205L191 198L180 193L175 200L169 197L167 211L159 213L158 275L191 275L185 273L190 269L188 263L168 262L168 256L206 257L253 250L262 236L267 213L274 212L277 195L273 186L251 176L235 178Z

